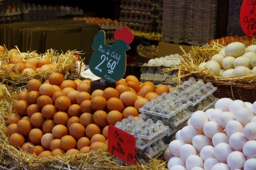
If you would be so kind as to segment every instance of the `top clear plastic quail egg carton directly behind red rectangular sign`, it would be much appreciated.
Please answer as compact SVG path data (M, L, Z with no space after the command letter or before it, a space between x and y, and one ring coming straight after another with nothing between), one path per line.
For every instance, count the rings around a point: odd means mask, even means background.
M115 127L120 128L136 138L143 138L145 140L153 140L168 130L168 126L165 126L162 121L146 120L139 117L137 120L133 116L129 116L127 119L123 119L121 122L116 122Z

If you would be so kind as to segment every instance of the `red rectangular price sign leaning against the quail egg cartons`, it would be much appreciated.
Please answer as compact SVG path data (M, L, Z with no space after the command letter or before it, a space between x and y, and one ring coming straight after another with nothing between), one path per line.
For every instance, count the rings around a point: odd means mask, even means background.
M107 141L109 153L114 154L114 156L121 158L127 163L135 163L136 140L133 135L109 125Z

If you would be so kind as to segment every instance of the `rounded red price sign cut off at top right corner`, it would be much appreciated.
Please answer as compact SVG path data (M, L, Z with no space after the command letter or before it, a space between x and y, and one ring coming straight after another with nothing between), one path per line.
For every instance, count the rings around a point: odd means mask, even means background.
M243 1L240 9L240 25L246 35L256 37L256 1Z

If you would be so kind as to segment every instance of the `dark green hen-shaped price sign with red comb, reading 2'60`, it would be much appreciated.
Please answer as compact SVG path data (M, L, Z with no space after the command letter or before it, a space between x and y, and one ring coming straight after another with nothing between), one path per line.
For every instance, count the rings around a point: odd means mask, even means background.
M129 44L134 39L134 34L128 27L124 27L115 30L114 39L112 45L105 44L105 32L100 30L93 39L94 51L89 62L93 74L112 83L119 81L125 74L125 51L130 49Z

